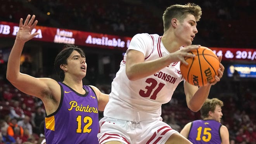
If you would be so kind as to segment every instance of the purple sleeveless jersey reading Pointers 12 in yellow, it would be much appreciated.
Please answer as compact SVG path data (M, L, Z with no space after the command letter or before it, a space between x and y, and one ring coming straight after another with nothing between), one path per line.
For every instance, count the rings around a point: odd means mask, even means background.
M58 109L45 117L47 144L99 144L98 100L90 86L85 94L76 93L59 82L61 102Z

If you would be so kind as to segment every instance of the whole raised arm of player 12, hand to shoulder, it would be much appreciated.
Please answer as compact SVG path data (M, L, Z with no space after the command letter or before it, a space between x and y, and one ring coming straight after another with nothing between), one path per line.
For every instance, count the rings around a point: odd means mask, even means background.
M49 87L56 86L55 84L57 84L57 82L48 78L37 79L20 72L20 59L24 44L26 41L29 41L34 36L39 34L31 34L32 29L35 28L38 22L37 20L35 21L35 15L32 17L31 15L28 15L24 21L24 24L22 21L23 19L21 18L19 22L19 31L8 59L6 77L17 89L23 93L42 98L42 91L52 94Z

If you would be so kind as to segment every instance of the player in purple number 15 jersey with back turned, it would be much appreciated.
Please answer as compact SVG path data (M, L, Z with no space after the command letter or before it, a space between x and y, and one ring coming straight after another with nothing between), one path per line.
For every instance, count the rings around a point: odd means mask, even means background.
M228 129L220 123L221 106L217 98L206 99L200 110L202 120L187 123L180 134L193 144L229 144Z

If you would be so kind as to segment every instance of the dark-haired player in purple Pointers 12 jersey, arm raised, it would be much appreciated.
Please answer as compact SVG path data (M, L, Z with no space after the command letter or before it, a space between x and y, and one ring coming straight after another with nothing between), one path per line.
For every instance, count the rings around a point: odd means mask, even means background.
M20 72L20 57L26 41L38 33L31 30L38 21L28 15L19 22L14 46L7 64L7 79L20 91L43 101L46 111L47 144L98 144L98 112L103 111L109 95L95 86L83 86L87 64L85 53L74 45L66 45L55 58L54 67L62 82L35 78Z

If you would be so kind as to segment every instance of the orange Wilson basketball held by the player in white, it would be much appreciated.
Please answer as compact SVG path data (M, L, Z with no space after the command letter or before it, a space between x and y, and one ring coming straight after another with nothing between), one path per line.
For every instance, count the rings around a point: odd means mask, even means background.
M212 50L201 46L190 53L195 55L194 58L185 58L189 65L180 63L180 72L187 82L194 86L205 86L208 82L213 82L214 76L218 75L220 61Z

